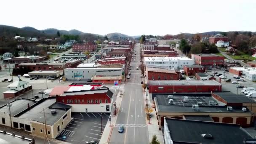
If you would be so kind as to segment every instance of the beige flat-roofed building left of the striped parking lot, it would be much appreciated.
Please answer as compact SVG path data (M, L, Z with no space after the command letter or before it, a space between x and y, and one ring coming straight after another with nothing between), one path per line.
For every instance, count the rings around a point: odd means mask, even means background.
M11 122L9 116L11 107ZM0 124L23 129L35 136L56 138L71 121L71 106L57 103L55 97L40 99L16 99L0 107ZM45 128L46 123L46 128Z

